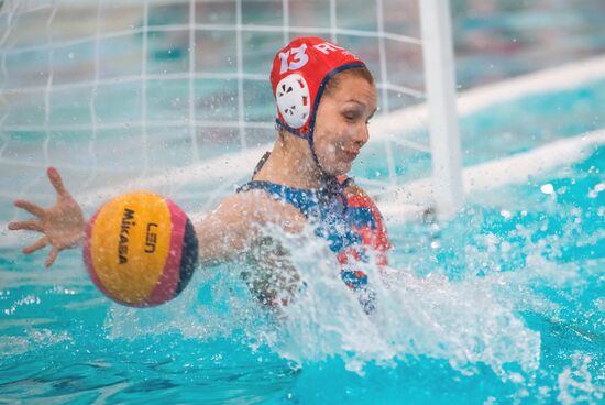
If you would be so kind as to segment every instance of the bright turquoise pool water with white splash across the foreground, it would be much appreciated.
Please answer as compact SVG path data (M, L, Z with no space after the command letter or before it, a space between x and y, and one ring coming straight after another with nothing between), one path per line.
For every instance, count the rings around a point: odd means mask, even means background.
M320 243L295 254L314 289L284 322L237 269L141 310L103 298L79 252L43 271L43 254L4 249L0 401L600 403L604 153L472 196L449 222L392 227L397 270L373 318L316 269Z

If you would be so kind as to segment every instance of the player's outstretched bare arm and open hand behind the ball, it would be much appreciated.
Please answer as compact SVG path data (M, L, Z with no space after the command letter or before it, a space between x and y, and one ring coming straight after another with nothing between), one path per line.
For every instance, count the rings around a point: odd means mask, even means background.
M23 253L30 254L51 245L51 252L44 262L48 267L61 251L84 244L86 220L56 168L50 167L47 175L57 193L55 205L42 208L26 200L14 201L16 207L35 218L11 222L9 229L42 233L34 243L23 249ZM266 237L263 234L263 227L270 223L278 225L287 232L297 232L302 229L305 217L294 207L275 201L264 191L235 194L226 198L217 209L195 225L200 264L204 266L237 259L253 259L265 264L272 262L272 254L268 254L272 253L271 249L266 247L263 249L265 253L261 254L263 258L251 254L260 251L258 243Z

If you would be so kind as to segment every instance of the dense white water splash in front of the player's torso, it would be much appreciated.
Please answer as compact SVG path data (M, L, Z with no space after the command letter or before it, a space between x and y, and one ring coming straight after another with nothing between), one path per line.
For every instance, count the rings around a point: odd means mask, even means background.
M462 372L485 363L503 379L512 376L509 363L525 372L539 366L540 335L525 326L514 303L501 299L499 280L450 282L369 266L377 310L367 316L343 286L322 241L283 241L289 242L306 284L283 307L284 336L276 350L288 359L305 364L340 357L349 370L362 373L370 362L389 365L426 355L446 359Z

